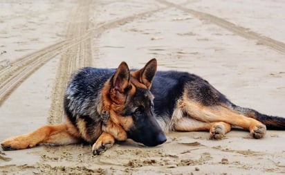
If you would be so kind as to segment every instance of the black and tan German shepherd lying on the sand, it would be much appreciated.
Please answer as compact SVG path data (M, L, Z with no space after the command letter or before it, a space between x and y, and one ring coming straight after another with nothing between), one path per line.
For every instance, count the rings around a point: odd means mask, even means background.
M165 142L165 131L210 131L221 139L232 126L263 138L268 129L285 129L285 118L238 107L197 75L158 71L156 59L140 70L125 62L116 69L82 68L64 95L66 122L46 125L1 143L4 150L39 144L93 144L100 154L116 140L131 138L149 147Z

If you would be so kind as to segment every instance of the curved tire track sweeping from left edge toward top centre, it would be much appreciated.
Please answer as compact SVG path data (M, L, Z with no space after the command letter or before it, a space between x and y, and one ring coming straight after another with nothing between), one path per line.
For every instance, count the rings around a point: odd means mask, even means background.
M107 23L100 24L96 28L91 28L87 30L86 33L73 37L66 38L56 44L43 48L42 50L38 50L35 53L30 53L24 57L17 59L17 61L12 62L9 66L0 69L0 106L1 104L8 98L8 96L17 89L17 87L24 82L30 75L32 75L35 71L37 71L41 66L46 64L53 57L64 53L65 50L71 48L73 46L78 46L81 42L84 42L87 39L91 39L93 37L98 37L105 30L109 30L116 26L124 25L129 21L133 21L135 19L139 19L141 17L149 16L155 12L160 10L165 10L166 8L157 8L155 10L149 10L145 12L138 13L136 15L131 15L129 17L124 17L122 19L116 19L114 21L108 21ZM84 42L84 47L89 46L90 42ZM81 54L84 54L83 51ZM90 53L91 54L91 53ZM80 59L80 62L86 62L86 60ZM89 63L84 63L88 65ZM62 64L66 65L66 64ZM64 75L65 79L68 80L69 75ZM59 82L59 81L57 81ZM65 89L65 87L64 87ZM60 96L62 98L62 96ZM61 99L62 101L62 99ZM62 112L59 112L62 113Z

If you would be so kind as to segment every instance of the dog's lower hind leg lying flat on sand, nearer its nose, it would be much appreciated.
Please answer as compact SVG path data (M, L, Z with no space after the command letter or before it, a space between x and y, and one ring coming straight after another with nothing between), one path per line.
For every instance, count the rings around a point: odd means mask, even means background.
M183 117L174 122L176 131L210 131L210 138L222 139L231 129L226 122L201 122L190 117Z

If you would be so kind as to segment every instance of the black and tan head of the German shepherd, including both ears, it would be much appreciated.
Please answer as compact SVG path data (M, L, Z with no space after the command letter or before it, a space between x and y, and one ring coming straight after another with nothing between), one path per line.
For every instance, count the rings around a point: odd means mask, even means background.
M150 147L166 141L154 116L154 95L150 91L156 66L156 59L151 59L142 69L130 72L122 62L109 81L107 100L110 120L122 128L118 132L124 130L127 138Z

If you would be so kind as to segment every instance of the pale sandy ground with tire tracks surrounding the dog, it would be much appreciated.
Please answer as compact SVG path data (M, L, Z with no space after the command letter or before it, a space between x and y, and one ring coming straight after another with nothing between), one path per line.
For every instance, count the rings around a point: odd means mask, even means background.
M62 93L82 66L201 75L232 102L285 117L285 2L0 0L0 140L62 122ZM89 145L0 150L0 174L284 174L285 132L167 133L101 156Z

